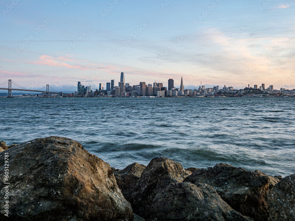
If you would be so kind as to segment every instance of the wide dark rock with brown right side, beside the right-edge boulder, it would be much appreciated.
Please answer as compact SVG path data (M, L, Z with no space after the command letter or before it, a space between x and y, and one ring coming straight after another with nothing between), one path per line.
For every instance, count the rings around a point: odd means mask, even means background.
M200 169L184 180L211 185L234 210L254 220L264 221L268 219L268 191L278 181L278 178L258 170L252 172L229 164Z

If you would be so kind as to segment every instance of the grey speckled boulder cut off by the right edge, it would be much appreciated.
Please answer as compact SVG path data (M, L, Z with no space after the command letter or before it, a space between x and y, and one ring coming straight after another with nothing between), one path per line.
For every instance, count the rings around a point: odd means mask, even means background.
M269 221L295 220L295 174L284 177L268 194Z

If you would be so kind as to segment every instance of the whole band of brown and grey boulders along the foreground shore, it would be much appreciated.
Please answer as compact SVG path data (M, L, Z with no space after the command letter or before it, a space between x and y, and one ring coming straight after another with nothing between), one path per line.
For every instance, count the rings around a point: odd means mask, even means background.
M273 177L222 163L184 169L164 157L119 170L55 136L1 141L1 180L7 162L1 220L295 220L295 174Z

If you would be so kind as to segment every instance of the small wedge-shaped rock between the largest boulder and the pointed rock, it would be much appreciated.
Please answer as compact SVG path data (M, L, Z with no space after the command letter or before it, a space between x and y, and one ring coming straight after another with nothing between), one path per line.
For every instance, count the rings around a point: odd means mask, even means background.
M140 179L141 173L145 167L146 166L143 164L133 163L127 166L125 169L113 171L117 185L121 189L125 199L128 201L130 201L135 184Z

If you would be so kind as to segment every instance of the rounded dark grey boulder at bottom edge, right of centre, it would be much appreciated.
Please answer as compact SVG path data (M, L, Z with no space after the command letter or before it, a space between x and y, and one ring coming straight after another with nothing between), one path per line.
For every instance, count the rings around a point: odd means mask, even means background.
M158 192L151 206L151 220L253 220L233 210L207 184L169 184Z

